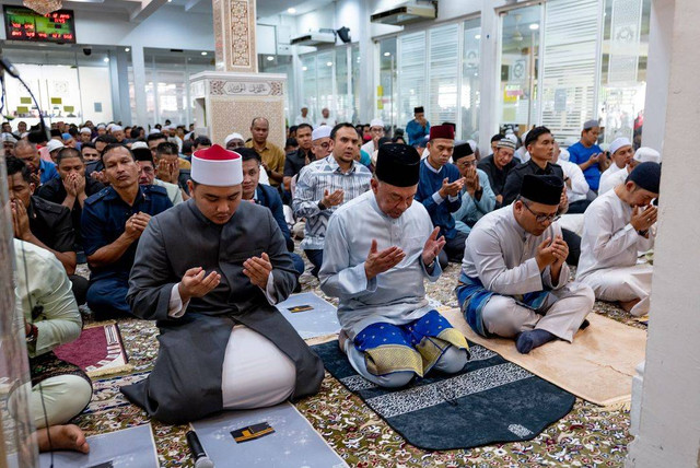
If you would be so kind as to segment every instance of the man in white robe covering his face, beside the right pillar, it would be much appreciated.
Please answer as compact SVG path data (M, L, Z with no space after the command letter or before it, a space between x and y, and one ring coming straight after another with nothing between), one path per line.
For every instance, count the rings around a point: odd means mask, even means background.
M596 198L584 217L576 280L635 316L649 312L652 267L637 259L654 246L657 209L651 202L658 197L660 179L660 164L641 163L623 184Z

